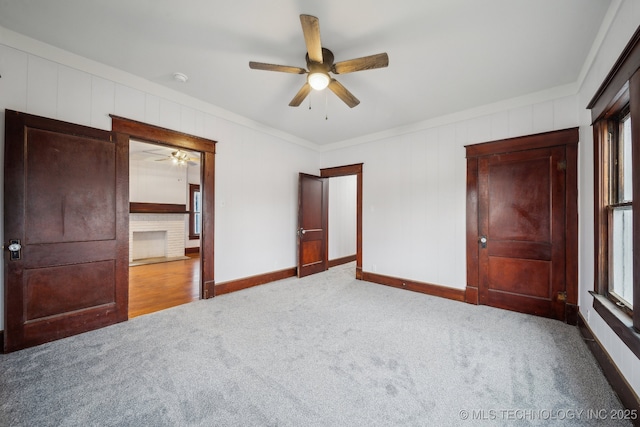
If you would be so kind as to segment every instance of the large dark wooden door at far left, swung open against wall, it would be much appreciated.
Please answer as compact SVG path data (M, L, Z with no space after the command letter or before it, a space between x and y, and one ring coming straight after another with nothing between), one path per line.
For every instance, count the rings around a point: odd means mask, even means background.
M127 319L128 138L6 112L4 350Z

